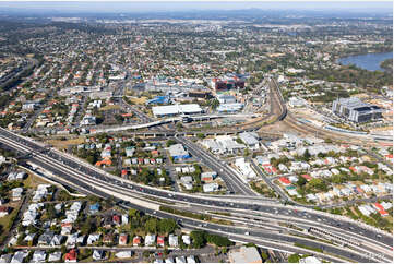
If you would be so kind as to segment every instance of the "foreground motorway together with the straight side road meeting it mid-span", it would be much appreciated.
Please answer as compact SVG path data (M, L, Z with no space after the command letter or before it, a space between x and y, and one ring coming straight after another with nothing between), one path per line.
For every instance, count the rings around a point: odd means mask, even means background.
M194 152L194 155L204 163L211 159L212 161L207 166L216 166L215 168L222 175L231 178L234 180L231 187L244 196L190 195L136 184L106 173L57 149L47 148L40 143L0 129L1 144L20 154L31 154L27 160L50 172L52 180L83 193L115 197L124 207L134 207L157 217L175 218L181 223L183 228L204 229L225 235L234 241L253 242L284 252L313 253L333 262L391 262L393 238L390 233L339 216L300 206L284 206L275 201L251 196L254 193L250 193L251 191L244 184L242 185L242 182L237 182L235 180L237 177L231 177L231 171L228 168L217 164L210 156L199 153L196 147L187 140L177 140L182 142L189 151ZM207 211L226 212L230 214L230 220L244 223L246 226L217 225L169 214L159 211L160 201L165 201L167 204L172 203L174 206L180 206L182 209L191 208L200 213ZM273 223L268 225L270 221ZM282 227L279 223L297 225L302 228L320 228L335 236L358 241L359 245L357 248L351 245L338 247L336 243L309 239L300 233L289 232L288 228ZM295 247L294 243L321 249L324 254Z

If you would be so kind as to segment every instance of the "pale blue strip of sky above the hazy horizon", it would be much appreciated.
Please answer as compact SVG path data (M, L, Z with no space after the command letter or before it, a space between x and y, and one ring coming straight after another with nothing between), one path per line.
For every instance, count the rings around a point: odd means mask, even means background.
M0 9L63 12L157 12L196 10L313 10L391 12L392 1L3 1Z

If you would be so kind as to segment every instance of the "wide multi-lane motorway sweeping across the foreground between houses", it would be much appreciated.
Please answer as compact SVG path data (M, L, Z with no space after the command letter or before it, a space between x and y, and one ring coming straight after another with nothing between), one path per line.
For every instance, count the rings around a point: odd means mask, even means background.
M246 197L214 197L203 195L189 195L164 191L160 189L136 184L131 181L107 175L74 157L70 157L56 149L45 149L43 145L35 143L28 139L21 137L7 130L0 129L0 142L9 148L20 153L34 152L31 161L50 171L57 176L58 180L64 184L69 184L82 192L92 193L100 196L115 196L118 200L127 201L124 206L138 207L145 213L155 214L158 217L176 217L182 220L182 225L187 228L201 228L212 232L219 232L236 240L261 244L288 252L307 252L307 250L295 248L292 243L298 242L313 248L323 249L330 253L326 256L331 261L353 260L357 262L387 262L392 260L392 236L378 231L348 219L339 218L321 212L309 211L302 207L283 206L264 200ZM351 248L341 248L319 240L310 240L307 238L279 233L263 228L242 228L234 226L220 226L216 224L204 224L192 220L187 217L175 216L165 212L157 211L145 203L140 202L142 197L155 197L171 201L175 204L183 205L184 208L192 206L201 207L201 211L210 207L217 211L226 211L228 213L241 213L246 221L247 218L270 217L271 219L286 220L291 223L319 227L330 230L339 236L348 236L361 242L360 249L355 251ZM136 206L138 204L139 206ZM241 218L241 217L239 217ZM199 227L199 225L202 225ZM249 232L246 236L246 232ZM373 247L371 247L373 244ZM342 259L338 259L342 257Z

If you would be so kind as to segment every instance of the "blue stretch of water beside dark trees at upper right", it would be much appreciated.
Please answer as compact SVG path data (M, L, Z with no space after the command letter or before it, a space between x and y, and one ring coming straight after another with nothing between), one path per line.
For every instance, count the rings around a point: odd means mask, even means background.
M392 58L393 52L367 53L339 58L338 62L343 65L355 64L368 71L383 71L384 69L380 67L380 63Z

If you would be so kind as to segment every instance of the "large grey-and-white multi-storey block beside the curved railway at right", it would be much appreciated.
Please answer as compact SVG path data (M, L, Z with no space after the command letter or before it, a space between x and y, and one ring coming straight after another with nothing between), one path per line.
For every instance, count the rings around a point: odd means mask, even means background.
M381 119L383 112L380 107L363 103L357 97L334 100L332 111L356 123Z

